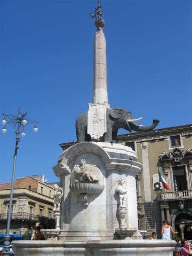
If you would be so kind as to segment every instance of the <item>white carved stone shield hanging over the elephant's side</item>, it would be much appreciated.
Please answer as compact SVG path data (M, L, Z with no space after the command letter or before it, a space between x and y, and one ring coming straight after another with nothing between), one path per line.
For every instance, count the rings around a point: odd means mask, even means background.
M94 139L99 139L107 131L106 113L106 103L89 103L87 133Z

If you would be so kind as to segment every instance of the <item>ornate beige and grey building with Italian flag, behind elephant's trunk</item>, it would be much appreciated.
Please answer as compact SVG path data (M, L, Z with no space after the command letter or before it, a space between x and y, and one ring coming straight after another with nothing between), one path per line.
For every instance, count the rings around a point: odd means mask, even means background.
M132 147L143 164L137 176L139 230L145 237L163 220L185 239L192 238L192 125L118 135L117 143ZM63 150L75 142L62 143ZM159 182L158 169L171 192Z

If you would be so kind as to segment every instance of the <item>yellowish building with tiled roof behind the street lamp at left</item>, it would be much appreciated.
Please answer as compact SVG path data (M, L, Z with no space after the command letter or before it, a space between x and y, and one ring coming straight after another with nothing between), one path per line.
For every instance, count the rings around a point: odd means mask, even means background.
M0 184L0 233L6 232L11 183ZM17 178L14 183L10 233L23 235L30 226L55 228L53 218L53 183L44 175Z

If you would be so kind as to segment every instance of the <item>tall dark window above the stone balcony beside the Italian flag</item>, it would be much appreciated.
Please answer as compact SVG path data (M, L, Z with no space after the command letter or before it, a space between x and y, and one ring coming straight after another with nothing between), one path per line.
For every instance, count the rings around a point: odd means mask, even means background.
M172 167L175 191L188 190L184 166Z

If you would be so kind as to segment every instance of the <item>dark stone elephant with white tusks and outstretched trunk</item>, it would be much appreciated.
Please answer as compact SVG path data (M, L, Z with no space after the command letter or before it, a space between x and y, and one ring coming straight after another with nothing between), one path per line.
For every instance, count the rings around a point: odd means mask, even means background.
M87 114L88 112L85 112L77 117L75 125L77 142L91 140L90 134L87 134ZM142 117L133 119L130 111L126 109L107 109L107 132L105 132L103 137L100 137L100 141L113 141L113 143L117 143L117 132L119 128L124 128L129 132L132 132L132 130L136 132L146 132L154 129L159 123L159 120L154 119L153 124L150 126L139 126L135 122L140 119L142 119Z

